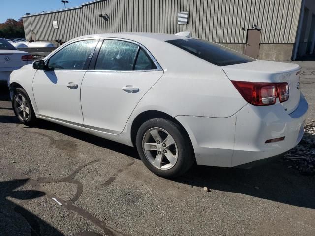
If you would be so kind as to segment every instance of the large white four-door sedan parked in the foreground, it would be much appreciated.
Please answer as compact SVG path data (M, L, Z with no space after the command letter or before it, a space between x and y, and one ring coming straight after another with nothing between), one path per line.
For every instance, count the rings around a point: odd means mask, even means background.
M277 156L303 136L301 68L170 34L73 39L14 71L21 122L49 120L135 146L161 177L193 163L234 167Z

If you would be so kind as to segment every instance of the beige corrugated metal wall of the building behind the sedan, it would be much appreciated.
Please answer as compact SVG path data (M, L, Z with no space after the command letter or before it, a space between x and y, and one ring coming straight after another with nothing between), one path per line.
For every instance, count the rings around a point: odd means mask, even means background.
M218 43L245 43L242 27L263 28L261 43L294 43L302 0L103 0L81 8L23 18L27 39L67 41L108 32L190 31L192 37ZM189 11L189 24L177 24L177 12ZM108 20L99 17L107 14ZM53 29L57 20L59 29Z

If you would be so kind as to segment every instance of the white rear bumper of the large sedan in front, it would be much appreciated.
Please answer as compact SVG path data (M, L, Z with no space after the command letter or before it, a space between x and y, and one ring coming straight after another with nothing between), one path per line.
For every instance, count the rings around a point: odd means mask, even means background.
M308 104L301 94L297 109L287 114L281 104L247 104L228 118L177 116L189 133L199 165L234 167L280 155L302 139ZM285 137L283 141L266 140Z

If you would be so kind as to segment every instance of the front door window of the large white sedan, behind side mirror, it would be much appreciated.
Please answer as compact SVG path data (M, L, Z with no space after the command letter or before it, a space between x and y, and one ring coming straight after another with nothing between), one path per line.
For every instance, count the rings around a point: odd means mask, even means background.
M51 70L84 70L92 58L96 40L83 40L71 43L54 54L48 61Z

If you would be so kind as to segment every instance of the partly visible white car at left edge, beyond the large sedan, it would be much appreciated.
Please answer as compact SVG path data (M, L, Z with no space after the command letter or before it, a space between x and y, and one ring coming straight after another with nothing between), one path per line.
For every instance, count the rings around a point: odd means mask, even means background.
M10 73L22 66L32 64L31 54L17 50L4 39L0 39L0 83L7 83Z

